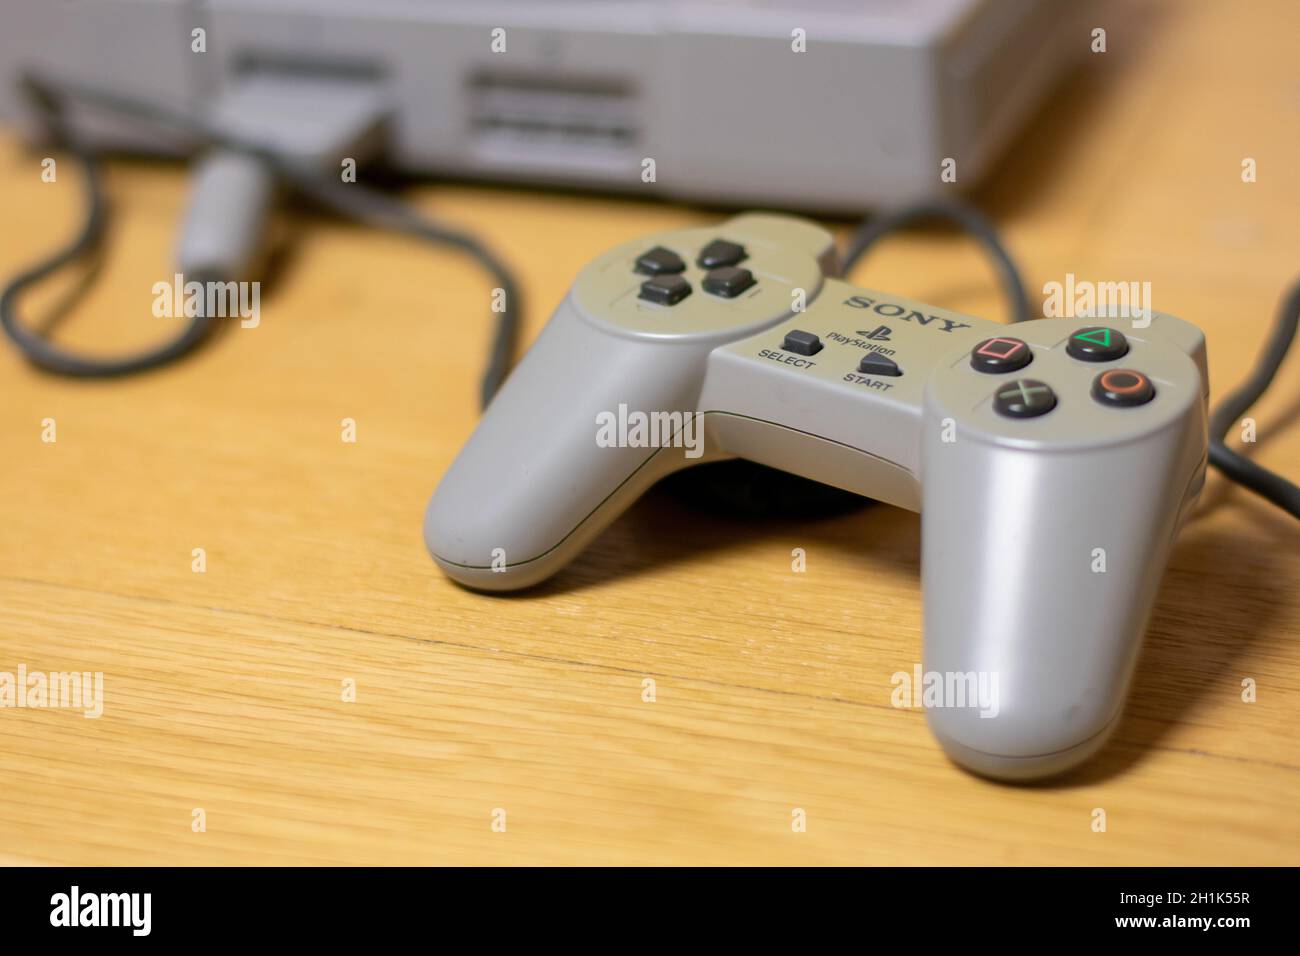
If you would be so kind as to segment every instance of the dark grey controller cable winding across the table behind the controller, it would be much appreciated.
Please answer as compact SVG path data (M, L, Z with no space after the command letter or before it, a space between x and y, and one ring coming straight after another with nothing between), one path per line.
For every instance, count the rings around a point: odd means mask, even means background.
M510 268L473 234L436 222L415 212L400 200L359 183L334 177L294 163L273 148L222 129L218 124L183 111L172 109L147 99L125 96L98 87L29 75L25 86L44 121L51 139L72 152L84 169L86 213L82 228L72 242L40 263L21 272L0 291L0 326L18 350L47 371L78 377L129 375L153 368L188 352L211 328L211 316L198 315L172 341L146 352L103 359L77 355L31 330L17 319L17 298L31 285L62 267L92 254L104 237L108 206L104 200L101 176L95 152L78 142L64 122L65 104L75 100L109 112L147 120L173 127L208 144L250 155L265 164L274 177L317 206L374 228L406 233L438 245L450 245L477 260L504 293L504 308L498 313L488 367L481 382L482 406L491 401L510 371L519 333L520 294ZM998 238L996 228L974 207L962 202L930 202L870 217L853 234L842 256L848 273L878 241L888 234L926 220L945 220L972 235L989 254L1010 303L1011 321L1031 319L1032 311L1019 269ZM222 277L205 277L222 278ZM1230 480L1253 490L1278 507L1300 518L1300 486L1252 462L1226 445L1234 423L1264 394L1286 358L1300 325L1300 282L1283 298L1273 332L1247 381L1225 398L1210 416L1209 460Z

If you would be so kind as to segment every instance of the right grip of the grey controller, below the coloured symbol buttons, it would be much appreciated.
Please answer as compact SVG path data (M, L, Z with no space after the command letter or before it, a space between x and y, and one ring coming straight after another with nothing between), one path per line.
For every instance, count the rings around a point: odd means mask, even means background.
M931 728L976 773L1065 770L1117 723L1180 510L1204 477L1201 406L1136 440L1061 450L962 431L945 442L927 418L923 666L950 688L927 706ZM972 704L972 688L985 698Z

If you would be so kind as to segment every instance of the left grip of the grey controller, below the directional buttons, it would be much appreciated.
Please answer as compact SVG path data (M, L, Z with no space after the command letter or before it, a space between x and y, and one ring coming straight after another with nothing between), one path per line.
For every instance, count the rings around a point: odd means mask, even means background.
M567 298L429 502L424 537L442 570L486 591L536 584L696 463L677 447L601 446L598 415L694 410L710 347L603 330Z

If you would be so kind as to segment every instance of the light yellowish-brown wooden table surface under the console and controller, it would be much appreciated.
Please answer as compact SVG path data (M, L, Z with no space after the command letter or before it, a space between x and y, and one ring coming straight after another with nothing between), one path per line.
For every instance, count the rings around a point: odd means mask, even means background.
M1300 273L1300 9L1140 13L976 199L1035 290L1150 281L1156 308L1206 330L1217 398ZM78 216L75 170L43 183L42 155L0 140L5 273ZM105 349L172 328L151 286L172 274L186 174L114 161L108 187L101 273L58 330ZM598 252L718 219L463 185L410 200L517 268L525 339ZM311 215L287 232L260 326L190 360L68 381L0 347L0 671L104 674L98 719L0 710L0 860L1300 862L1295 520L1213 475L1113 743L1052 786L980 780L890 705L890 675L920 659L914 514L745 520L660 490L533 593L451 585L420 519L474 427L490 284L393 235ZM984 258L941 230L889 241L854 278L1004 315ZM1291 476L1297 412L1294 358L1251 447Z

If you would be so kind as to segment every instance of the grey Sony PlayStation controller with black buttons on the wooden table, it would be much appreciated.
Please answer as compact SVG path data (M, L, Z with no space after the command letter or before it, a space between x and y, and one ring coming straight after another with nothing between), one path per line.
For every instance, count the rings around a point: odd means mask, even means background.
M599 256L438 485L429 551L525 588L736 457L920 511L924 670L968 697L931 728L984 775L1071 767L1118 721L1205 480L1205 338L1158 312L1009 326L836 269L829 233L768 215Z

